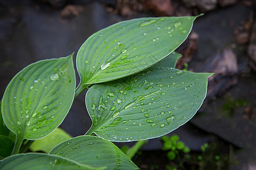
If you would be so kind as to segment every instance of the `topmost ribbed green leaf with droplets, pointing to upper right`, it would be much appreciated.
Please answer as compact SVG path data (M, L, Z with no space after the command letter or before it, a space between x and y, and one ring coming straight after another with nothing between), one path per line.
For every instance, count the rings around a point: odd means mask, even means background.
M94 33L77 53L80 86L119 79L154 65L187 39L197 17L138 18Z

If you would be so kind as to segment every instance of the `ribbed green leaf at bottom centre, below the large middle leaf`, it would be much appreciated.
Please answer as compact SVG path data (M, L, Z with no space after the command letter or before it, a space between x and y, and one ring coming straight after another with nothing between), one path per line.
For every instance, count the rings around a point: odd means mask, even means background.
M138 169L112 142L93 136L69 139L51 150L49 154L64 156L76 162L108 169Z

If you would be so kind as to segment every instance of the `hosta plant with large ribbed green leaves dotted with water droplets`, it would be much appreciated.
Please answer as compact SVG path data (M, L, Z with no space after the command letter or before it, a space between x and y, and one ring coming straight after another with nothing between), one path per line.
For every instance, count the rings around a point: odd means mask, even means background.
M196 18L138 18L94 33L77 53L77 88L73 54L21 70L1 101L0 169L138 169L112 142L170 133L189 121L205 99L211 74L175 69L181 55L174 50ZM92 126L85 135L47 154L24 154L63 122L74 97L86 88Z

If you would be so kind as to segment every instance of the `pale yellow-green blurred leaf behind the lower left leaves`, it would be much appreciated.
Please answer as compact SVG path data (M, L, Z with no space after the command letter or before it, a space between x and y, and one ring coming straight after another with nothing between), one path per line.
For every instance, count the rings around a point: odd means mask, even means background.
M72 138L71 135L66 133L64 130L57 128L47 137L33 142L30 146L30 150L33 152L44 151L46 153L49 153L49 151L51 151L53 147L70 138Z

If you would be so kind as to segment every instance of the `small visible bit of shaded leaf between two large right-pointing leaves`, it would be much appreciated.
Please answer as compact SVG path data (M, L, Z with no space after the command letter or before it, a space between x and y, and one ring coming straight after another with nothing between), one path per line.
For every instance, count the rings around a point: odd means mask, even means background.
M171 67L171 68L175 68L177 60L180 57L182 57L182 55L180 53L172 52L171 54L166 56L164 59L162 59L160 62L156 63L152 67L155 67L155 68L157 68L157 67Z

